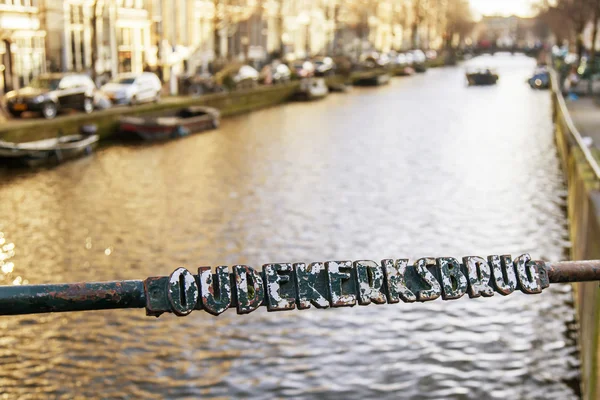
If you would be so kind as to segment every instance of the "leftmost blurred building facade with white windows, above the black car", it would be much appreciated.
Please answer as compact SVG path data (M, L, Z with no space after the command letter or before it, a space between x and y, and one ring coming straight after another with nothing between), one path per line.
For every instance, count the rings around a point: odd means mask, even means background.
M0 0L0 92L46 71L45 39L36 0Z

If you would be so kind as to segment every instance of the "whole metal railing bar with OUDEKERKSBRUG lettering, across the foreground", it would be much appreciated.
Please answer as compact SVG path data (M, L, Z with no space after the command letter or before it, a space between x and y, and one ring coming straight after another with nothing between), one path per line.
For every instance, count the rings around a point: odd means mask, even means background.
M197 274L177 268L144 281L0 286L0 315L145 308L146 314L193 310L219 315L228 308L247 314L260 306L285 311L538 294L551 283L600 281L600 261L533 261L511 256L327 261L266 264L262 271L235 265Z

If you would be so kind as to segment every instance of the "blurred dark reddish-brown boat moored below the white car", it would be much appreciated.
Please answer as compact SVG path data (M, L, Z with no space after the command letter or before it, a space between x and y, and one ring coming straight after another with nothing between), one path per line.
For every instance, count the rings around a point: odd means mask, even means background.
M221 113L211 107L187 107L170 114L121 117L119 131L143 140L167 140L219 127Z

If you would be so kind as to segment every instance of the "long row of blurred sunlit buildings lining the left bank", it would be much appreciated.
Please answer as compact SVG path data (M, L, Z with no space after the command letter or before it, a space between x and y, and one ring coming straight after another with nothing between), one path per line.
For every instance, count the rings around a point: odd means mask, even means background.
M447 0L0 0L0 90L44 71L171 75L215 60L439 48Z

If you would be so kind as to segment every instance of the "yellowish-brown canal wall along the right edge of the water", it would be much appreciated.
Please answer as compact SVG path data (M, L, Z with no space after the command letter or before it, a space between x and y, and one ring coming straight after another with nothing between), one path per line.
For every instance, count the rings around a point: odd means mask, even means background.
M556 71L551 70L555 139L567 183L567 212L571 259L600 257L600 168L573 123ZM598 153L596 153L598 154ZM579 343L582 357L584 399L600 395L600 289L597 283L576 285L575 300L579 315Z

